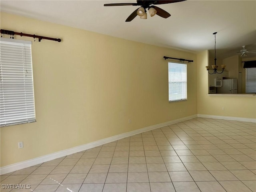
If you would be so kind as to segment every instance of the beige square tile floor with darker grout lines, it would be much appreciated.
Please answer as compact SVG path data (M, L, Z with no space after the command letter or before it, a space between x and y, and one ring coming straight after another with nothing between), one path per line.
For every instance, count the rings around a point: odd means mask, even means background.
M1 175L1 192L256 192L256 124L194 118Z

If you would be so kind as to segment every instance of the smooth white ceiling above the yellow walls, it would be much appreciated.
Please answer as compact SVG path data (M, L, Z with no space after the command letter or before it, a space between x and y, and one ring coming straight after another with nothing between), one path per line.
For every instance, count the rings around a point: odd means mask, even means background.
M1 12L62 24L156 46L197 53L214 49L217 58L246 45L256 50L255 0L187 0L157 5L172 16L126 18L138 6L103 6L136 0L1 0ZM11 30L11 29L10 29ZM24 31L25 32L25 31ZM40 34L38 34L40 35ZM249 56L256 56L256 54Z

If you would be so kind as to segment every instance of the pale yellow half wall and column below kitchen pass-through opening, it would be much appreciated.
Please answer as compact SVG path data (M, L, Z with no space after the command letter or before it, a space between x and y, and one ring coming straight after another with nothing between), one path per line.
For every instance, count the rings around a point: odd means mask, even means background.
M197 54L197 112L198 114L256 118L256 96L208 95L208 51ZM225 110L222 110L222 107Z

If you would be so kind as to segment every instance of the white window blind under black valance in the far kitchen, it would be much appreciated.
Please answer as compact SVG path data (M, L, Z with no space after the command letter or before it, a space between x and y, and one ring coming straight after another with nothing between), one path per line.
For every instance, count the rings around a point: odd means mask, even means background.
M245 69L246 93L256 93L256 68Z

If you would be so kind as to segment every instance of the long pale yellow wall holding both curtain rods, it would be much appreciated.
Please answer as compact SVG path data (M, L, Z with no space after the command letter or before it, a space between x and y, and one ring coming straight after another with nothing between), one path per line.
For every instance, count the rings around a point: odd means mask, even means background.
M62 39L16 36L32 40L37 122L1 127L1 167L197 114L195 54L6 13L1 29ZM168 102L163 56L194 60L187 101Z

